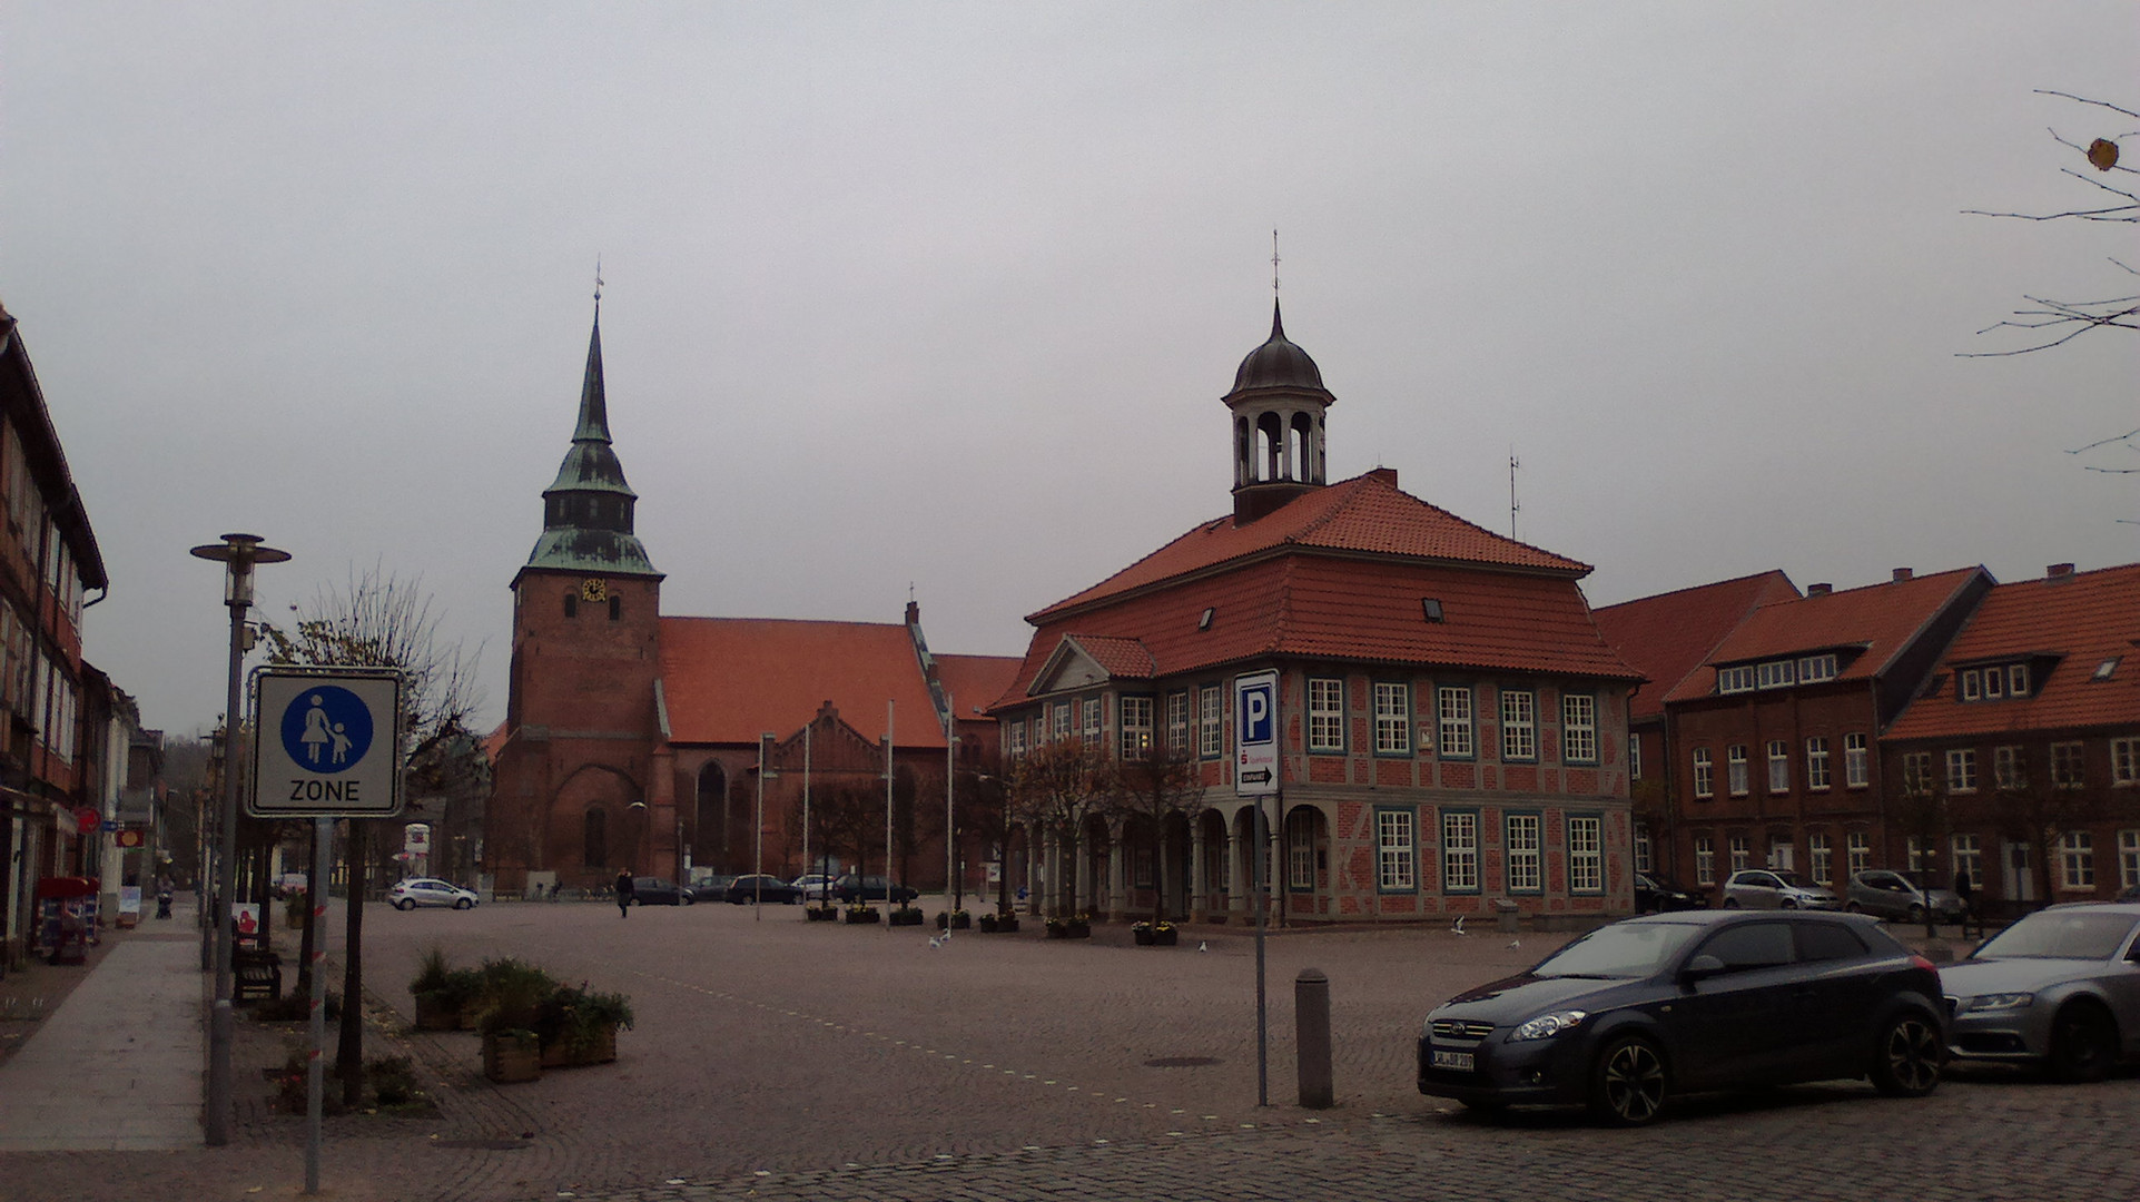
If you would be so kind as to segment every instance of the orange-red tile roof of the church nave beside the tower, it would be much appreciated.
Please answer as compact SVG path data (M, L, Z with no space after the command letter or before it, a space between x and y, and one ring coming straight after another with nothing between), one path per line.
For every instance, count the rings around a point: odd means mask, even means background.
M976 697L989 691L989 669L969 661L991 657L946 659L959 661L957 672L972 672ZM999 663L1006 667L997 672L1008 676L1017 661ZM661 618L661 695L670 742L755 744L762 731L785 738L824 702L839 706L854 729L877 731L890 699L899 746L944 746L903 625Z

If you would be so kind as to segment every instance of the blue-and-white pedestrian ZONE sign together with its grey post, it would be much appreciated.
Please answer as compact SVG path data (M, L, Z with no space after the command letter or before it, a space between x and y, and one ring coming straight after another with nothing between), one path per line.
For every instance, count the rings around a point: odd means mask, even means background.
M304 1191L319 1193L319 1116L327 1046L327 849L334 819L400 813L400 674L325 667L253 674L253 817L312 819L312 1054L304 1082ZM430 828L424 828L426 847ZM364 905L364 898L349 898ZM355 954L355 947L349 950Z

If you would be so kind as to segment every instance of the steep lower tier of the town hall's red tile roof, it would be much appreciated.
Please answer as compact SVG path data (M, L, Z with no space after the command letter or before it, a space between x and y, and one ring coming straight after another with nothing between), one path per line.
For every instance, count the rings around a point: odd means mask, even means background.
M1442 603L1440 622L1425 620L1421 599ZM1207 607L1211 629L1198 631ZM1151 657L1138 678L1284 654L1639 680L1605 646L1571 575L1410 558L1256 558L1040 622L997 706L1025 702L1066 635L1081 646L1136 639Z

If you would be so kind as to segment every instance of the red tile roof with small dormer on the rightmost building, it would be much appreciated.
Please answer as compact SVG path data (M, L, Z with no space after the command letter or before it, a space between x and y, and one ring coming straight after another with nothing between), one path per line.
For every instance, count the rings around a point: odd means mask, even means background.
M1960 702L1956 663L2057 654L2020 702ZM2110 680L2095 669L2116 659ZM2039 669L2042 672L2042 669ZM1902 710L1887 738L2140 725L2140 565L2016 580L1984 597L1943 661L1943 687Z

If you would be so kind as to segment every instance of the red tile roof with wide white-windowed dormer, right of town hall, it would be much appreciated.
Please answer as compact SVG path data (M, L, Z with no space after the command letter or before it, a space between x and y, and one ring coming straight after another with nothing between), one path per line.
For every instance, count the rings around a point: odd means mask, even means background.
M1952 605L1973 582L1990 580L1982 567L1962 567L1840 592L1772 601L1746 616L1701 667L1682 678L1665 702L1691 702L1716 691L1718 663L1834 648L1862 648L1836 680L1868 680L1887 669L1926 622Z

